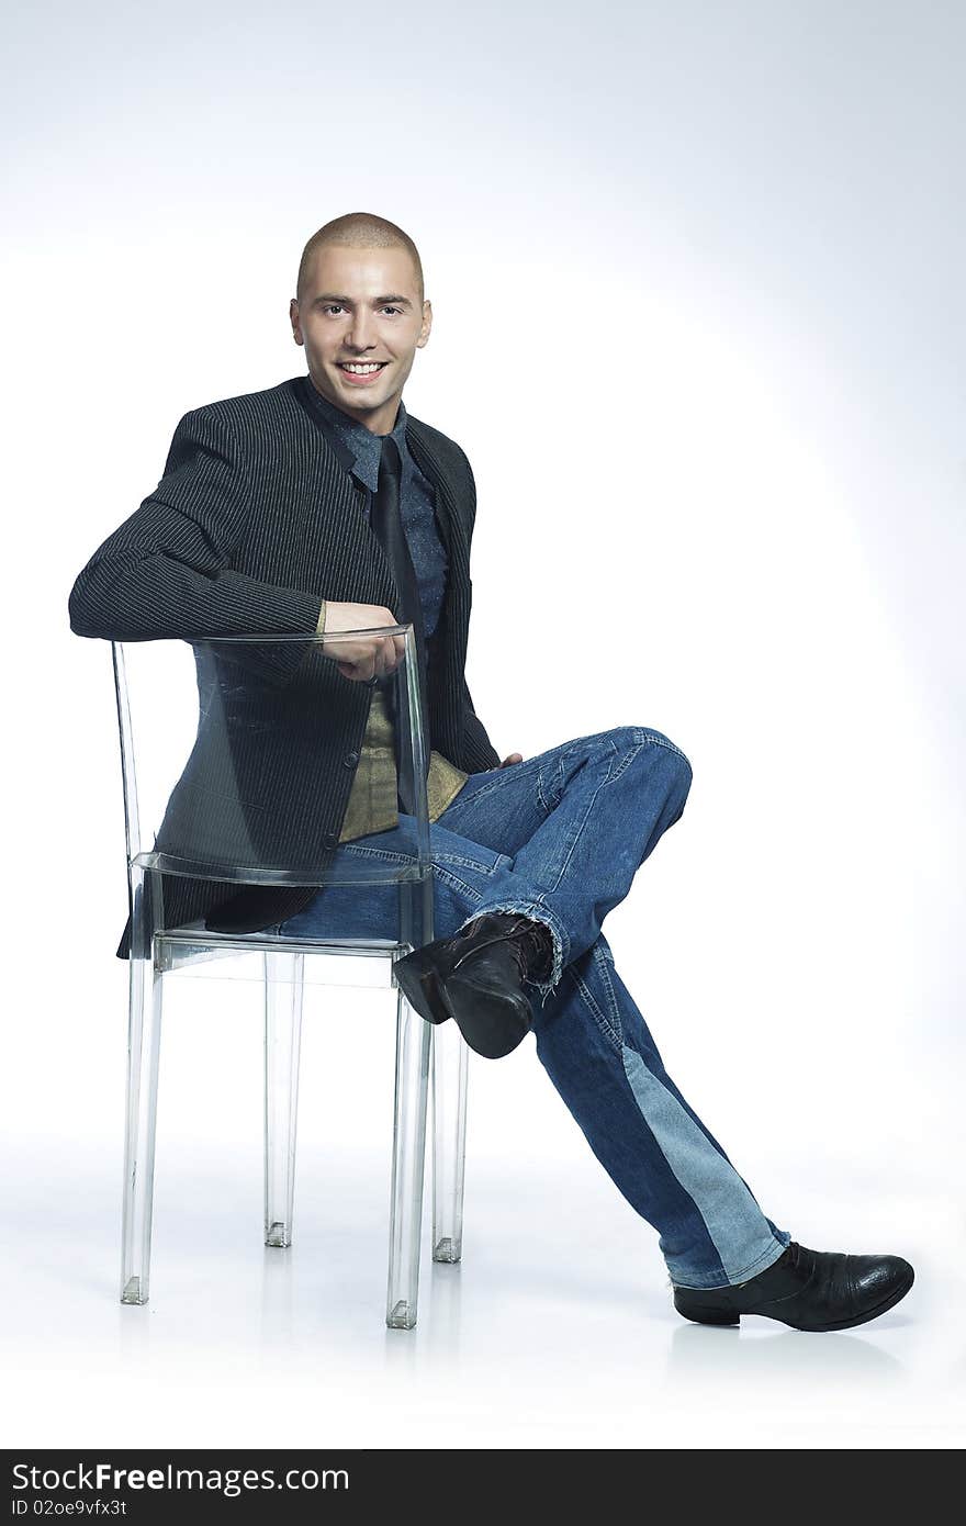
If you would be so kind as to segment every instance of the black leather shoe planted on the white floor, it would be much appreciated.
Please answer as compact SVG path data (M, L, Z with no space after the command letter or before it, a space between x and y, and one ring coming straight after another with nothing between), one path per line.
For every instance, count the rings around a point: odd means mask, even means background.
M749 1282L729 1288L675 1286L675 1308L699 1325L739 1325L763 1314L797 1331L847 1331L905 1299L914 1271L902 1256L845 1256L797 1241Z

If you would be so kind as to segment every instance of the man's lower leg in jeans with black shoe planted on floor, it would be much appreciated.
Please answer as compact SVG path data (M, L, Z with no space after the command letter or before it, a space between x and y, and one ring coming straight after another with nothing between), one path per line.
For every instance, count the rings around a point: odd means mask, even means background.
M537 1054L627 1201L659 1230L675 1308L700 1325L763 1314L794 1329L850 1329L894 1308L902 1256L815 1251L766 1218L681 1096L603 932L540 1009Z

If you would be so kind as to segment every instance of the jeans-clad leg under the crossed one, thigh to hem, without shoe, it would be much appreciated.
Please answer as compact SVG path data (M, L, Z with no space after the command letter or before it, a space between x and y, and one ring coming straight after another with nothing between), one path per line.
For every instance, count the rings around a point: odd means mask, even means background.
M391 864L406 832L403 826L343 844L336 864ZM430 826L430 839L435 932L449 937L488 899L511 859L441 821ZM395 937L397 917L395 885L327 885L281 929L296 937ZM667 1077L603 934L566 967L543 1007L536 989L531 1004L537 1056L604 1170L658 1231L673 1280L719 1286L780 1256L787 1236L763 1218Z

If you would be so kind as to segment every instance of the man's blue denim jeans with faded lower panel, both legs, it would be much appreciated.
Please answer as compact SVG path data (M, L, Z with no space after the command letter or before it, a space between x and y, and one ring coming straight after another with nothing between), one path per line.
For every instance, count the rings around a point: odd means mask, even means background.
M472 774L430 824L433 935L484 911L552 934L530 983L537 1058L618 1190L659 1235L673 1283L717 1288L771 1267L791 1241L667 1074L601 922L684 812L691 765L659 731L617 726ZM339 847L391 862L412 818ZM325 885L281 931L395 937L395 885Z

